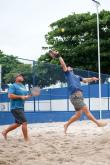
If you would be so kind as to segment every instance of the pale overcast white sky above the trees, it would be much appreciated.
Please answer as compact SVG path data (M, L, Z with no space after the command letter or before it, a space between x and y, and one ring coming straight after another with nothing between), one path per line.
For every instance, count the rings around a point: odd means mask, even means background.
M99 0L110 10L110 0ZM96 12L91 0L0 0L0 50L36 60L44 53L49 25L69 14Z

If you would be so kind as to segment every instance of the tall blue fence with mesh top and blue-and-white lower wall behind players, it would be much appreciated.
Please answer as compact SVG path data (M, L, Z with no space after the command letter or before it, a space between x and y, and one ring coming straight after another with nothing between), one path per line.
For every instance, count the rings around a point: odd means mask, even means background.
M75 74L82 77L98 77L98 73L74 69ZM28 76L27 76L28 77ZM33 63L32 82L26 81L32 86L41 87L41 95L39 97L32 97L26 101L25 113L29 123L36 122L61 122L66 121L74 114L73 106L69 102L69 92L65 81L64 73L59 66L50 64ZM30 78L30 79L31 79ZM102 79L102 101L103 111L102 118L110 118L110 83L109 75L101 74ZM28 82L29 81L29 82ZM52 88L53 84L58 88ZM44 87L49 89L44 89ZM50 89L51 87L51 89ZM100 112L97 106L99 89L97 83L87 84L82 86L84 97L87 105L97 119L100 117ZM0 94L0 124L10 124L14 119L9 112L9 99L7 94ZM28 112L27 112L28 111ZM87 119L84 115L81 120Z

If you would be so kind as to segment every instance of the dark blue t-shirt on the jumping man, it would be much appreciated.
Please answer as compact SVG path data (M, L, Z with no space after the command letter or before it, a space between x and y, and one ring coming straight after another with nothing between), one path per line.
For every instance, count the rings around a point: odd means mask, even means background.
M82 77L75 75L72 70L65 72L65 77L67 80L70 94L75 93L77 91L82 91L80 82L83 81Z

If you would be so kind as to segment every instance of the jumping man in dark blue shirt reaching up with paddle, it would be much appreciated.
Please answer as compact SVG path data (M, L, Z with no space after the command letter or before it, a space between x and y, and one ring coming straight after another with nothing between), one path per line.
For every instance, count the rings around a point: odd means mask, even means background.
M106 126L107 123L96 120L96 118L91 114L88 107L84 103L83 91L81 89L81 81L84 82L84 83L90 83L90 82L93 82L93 81L98 81L99 79L96 78L96 77L83 78L83 77L80 77L78 75L75 75L74 71L73 71L73 68L71 68L70 66L67 66L65 64L63 58L59 55L59 53L57 51L52 51L51 50L51 51L49 51L49 54L52 58L58 58L59 61L60 61L60 64L63 68L64 73L65 73L68 88L69 88L69 91L70 91L70 101L74 105L74 108L75 108L75 111L76 111L75 115L72 116L72 118L70 118L68 120L68 122L64 125L65 134L67 132L68 126L71 123L78 120L81 117L82 112L84 112L85 115L89 118L89 120L93 121L98 127Z

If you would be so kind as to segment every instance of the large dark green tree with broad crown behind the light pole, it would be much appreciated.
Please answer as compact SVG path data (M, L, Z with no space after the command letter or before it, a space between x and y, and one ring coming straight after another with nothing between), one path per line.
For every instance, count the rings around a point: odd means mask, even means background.
M96 14L73 14L50 25L45 36L49 47L56 49L66 63L81 69L98 71ZM110 11L100 12L101 71L110 73ZM39 61L58 63L48 53Z

